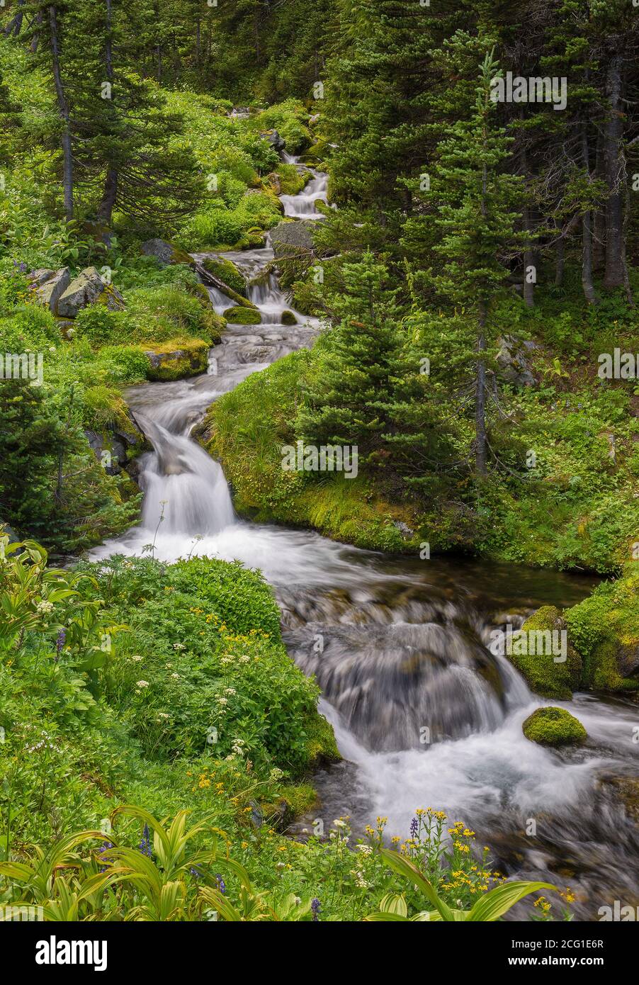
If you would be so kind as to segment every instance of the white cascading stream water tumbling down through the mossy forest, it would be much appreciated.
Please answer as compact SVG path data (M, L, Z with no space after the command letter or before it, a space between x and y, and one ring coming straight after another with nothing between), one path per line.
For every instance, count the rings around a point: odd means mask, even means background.
M315 203L325 197L325 175L313 171L302 193L283 201L287 215L319 220ZM273 273L260 276L273 261L268 239L224 256L249 282L262 322L228 325L208 373L128 391L154 448L141 461L142 522L94 557L139 555L155 541L164 560L191 552L262 569L277 593L288 652L316 675L345 757L316 777L327 828L343 815L355 829L383 815L389 834L406 835L415 807L432 806L472 825L502 871L572 886L582 919L597 919L614 899L639 902L638 828L613 796L620 777L639 772L636 704L590 693L553 702L577 714L589 741L545 750L521 725L550 702L487 648L491 630L521 624L543 604L574 604L592 579L392 558L238 519L222 467L191 430L220 394L311 345L319 323L296 313L297 325L282 324L288 299ZM233 303L209 293L219 311ZM526 833L531 821L535 835Z

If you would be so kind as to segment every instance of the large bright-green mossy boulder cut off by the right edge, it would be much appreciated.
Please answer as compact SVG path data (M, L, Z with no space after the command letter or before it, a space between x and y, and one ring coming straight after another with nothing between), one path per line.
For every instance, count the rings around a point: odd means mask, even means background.
M639 562L599 585L565 612L584 663L583 684L596 690L639 689Z

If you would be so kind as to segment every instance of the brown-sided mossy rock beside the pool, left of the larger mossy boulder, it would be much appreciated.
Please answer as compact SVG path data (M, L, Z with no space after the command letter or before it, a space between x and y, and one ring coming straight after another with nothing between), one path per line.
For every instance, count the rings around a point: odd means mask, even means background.
M553 655L547 645L548 638L553 638L552 635L548 637L548 633L565 631L566 623L559 610L555 606L543 606L512 637L512 650L516 651L521 641L522 648L528 648L528 653L506 653L529 688L543 697L565 700L580 686L582 660L574 646L567 642L566 659L560 662L557 660L559 654ZM532 633L537 635L533 636Z

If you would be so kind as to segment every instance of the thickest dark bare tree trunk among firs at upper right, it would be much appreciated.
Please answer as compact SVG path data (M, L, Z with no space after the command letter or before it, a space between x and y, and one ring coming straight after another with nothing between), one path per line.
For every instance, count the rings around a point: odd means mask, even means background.
M607 121L605 126L605 173L608 187L606 203L606 271L604 287L625 285L625 256L623 248L623 189L621 142L623 116L621 106L621 55L613 54L607 67Z

